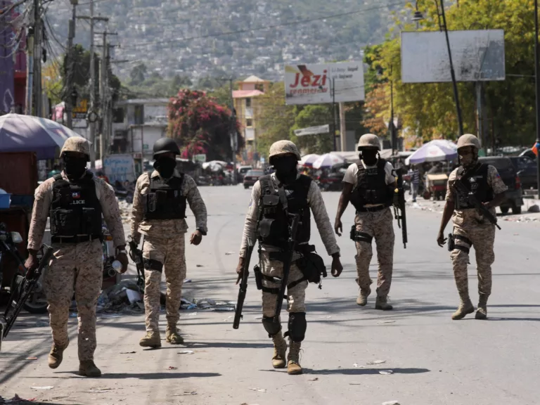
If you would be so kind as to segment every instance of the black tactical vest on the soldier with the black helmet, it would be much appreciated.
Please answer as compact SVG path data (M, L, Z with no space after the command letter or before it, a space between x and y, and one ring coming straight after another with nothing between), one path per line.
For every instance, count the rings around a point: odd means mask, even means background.
M150 177L150 193L143 194L144 219L186 218L186 196L182 195L184 174L168 180Z

